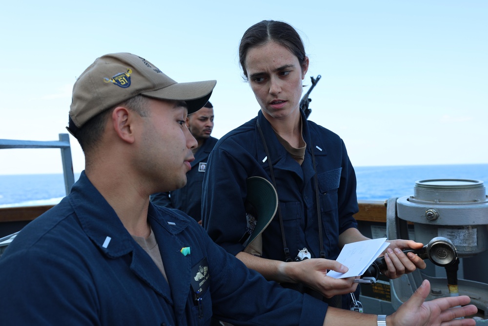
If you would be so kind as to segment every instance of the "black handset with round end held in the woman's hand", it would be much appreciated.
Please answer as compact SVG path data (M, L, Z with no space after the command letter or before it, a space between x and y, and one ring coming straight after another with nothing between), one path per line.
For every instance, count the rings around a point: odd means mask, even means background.
M435 237L429 241L421 249L405 249L402 250L405 254L413 252L423 260L428 259L437 266L452 265L458 258L457 250L451 240L444 237ZM378 280L380 272L386 269L386 261L384 257L377 258L361 278L374 278ZM374 282L371 282L374 283Z

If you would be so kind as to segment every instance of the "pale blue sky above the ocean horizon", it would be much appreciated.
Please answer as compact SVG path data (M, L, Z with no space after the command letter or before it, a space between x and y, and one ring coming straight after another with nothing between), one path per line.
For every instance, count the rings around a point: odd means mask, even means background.
M76 77L113 52L178 82L216 79L219 138L257 114L237 49L250 25L274 19L304 38L305 85L322 76L310 120L344 139L353 165L488 163L488 1L20 0L2 13L0 138L58 139ZM61 171L59 150L0 151L0 174Z

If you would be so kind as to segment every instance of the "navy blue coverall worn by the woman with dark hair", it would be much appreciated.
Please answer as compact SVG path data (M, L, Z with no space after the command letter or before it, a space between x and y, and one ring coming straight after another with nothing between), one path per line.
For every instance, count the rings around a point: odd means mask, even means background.
M335 260L341 250L339 235L348 228L357 228L353 217L359 211L356 175L346 146L337 134L306 120L303 111L301 114L306 143L302 165L279 142L261 111L254 119L224 135L210 153L203 180L206 189L202 199L203 227L229 253L237 255L244 250L239 240L246 230L246 178L262 176L271 182L269 159L276 178L290 258L296 257L304 247L312 258L321 257L312 151L316 160L325 258ZM258 120L270 158L257 128ZM262 257L285 261L278 214L262 237ZM343 307L345 304L349 301L344 301Z

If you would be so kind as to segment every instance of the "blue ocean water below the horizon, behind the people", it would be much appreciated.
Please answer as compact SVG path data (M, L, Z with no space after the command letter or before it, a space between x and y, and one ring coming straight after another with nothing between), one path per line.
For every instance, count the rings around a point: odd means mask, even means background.
M412 196L415 181L425 179L474 179L488 187L488 164L355 167L355 171L358 200ZM0 207L57 204L64 196L62 174L0 175Z

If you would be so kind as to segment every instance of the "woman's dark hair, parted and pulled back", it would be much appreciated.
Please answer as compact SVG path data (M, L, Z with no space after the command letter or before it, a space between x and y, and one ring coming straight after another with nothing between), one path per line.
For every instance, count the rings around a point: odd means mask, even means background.
M265 43L273 41L293 53L300 65L305 65L305 46L302 38L298 32L286 22L279 21L262 21L249 27L239 44L239 63L247 80L247 71L245 66L245 58L250 48L264 45Z

